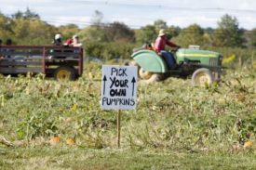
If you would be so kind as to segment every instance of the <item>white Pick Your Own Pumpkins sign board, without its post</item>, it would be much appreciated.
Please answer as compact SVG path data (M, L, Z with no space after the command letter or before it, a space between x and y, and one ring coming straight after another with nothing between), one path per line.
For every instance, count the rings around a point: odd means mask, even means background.
M136 108L137 70L136 66L102 66L101 108L103 110Z

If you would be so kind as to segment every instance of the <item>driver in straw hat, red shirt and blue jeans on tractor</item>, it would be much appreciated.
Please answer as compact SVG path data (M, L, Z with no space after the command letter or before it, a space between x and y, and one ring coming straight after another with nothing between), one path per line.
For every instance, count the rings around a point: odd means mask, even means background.
M169 41L166 31L162 29L159 31L158 37L155 40L155 52L166 60L169 69L174 69L176 66L176 61L173 57L173 54L165 50L166 45L176 48L181 47Z

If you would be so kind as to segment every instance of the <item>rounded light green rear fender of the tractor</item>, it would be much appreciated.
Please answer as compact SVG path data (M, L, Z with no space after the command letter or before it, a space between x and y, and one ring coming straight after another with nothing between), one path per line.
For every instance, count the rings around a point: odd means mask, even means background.
M143 71L147 72L168 72L168 66L163 58L152 50L140 50L131 55Z

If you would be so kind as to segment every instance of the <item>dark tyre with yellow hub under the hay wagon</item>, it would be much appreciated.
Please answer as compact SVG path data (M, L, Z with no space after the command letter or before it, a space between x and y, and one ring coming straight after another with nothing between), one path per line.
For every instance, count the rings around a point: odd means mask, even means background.
M75 80L75 70L73 67L60 66L54 72L55 80Z

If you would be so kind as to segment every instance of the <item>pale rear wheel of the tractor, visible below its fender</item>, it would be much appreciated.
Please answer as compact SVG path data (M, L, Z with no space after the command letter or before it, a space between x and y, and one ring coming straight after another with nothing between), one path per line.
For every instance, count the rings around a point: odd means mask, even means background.
M141 80L146 83L146 84L151 84L154 82L159 82L164 79L164 74L163 73L155 73L155 72L147 72L143 71L142 68L140 68L139 71L139 77Z

